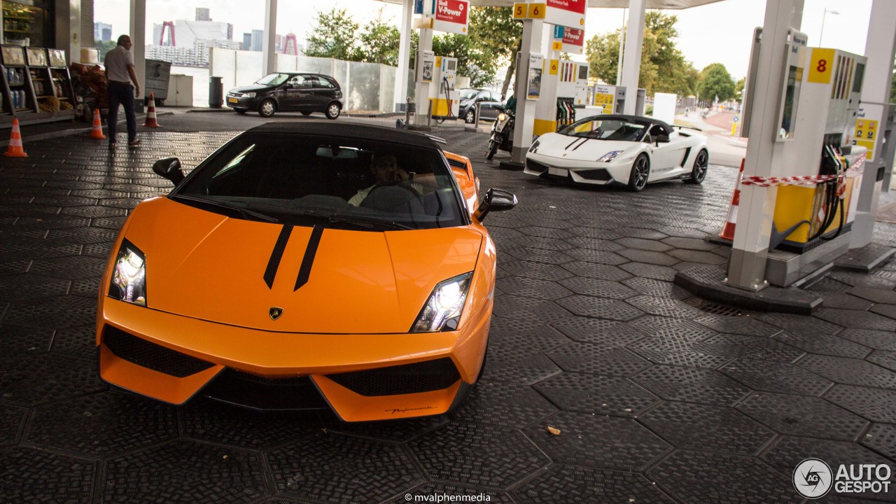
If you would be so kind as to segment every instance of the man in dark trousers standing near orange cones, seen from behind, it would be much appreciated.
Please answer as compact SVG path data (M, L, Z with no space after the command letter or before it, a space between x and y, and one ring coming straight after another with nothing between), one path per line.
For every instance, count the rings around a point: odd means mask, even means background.
M134 97L140 96L140 84L134 73L134 55L131 54L131 38L127 35L118 37L118 45L106 53L106 78L109 92L109 149L115 149L115 130L118 120L118 104L125 106L127 119L127 144L129 147L140 145L137 140L137 117L134 114ZM131 83L134 86L131 86Z

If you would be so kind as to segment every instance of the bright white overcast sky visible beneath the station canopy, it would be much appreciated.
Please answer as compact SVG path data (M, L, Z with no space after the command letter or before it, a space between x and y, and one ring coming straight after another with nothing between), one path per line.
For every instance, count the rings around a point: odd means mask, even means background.
M872 0L805 0L801 31L809 38L810 47L839 48L864 54ZM194 19L196 7L211 9L212 21L231 22L234 39L242 34L262 30L264 9L262 0L252 0L256 11L246 8L246 0L147 0L147 34L152 35L152 24L177 19ZM314 29L319 10L329 12L332 6L345 9L360 25L373 19L383 9L383 20L398 26L401 5L376 0L335 0L309 2L280 0L277 32L297 34L302 41ZM826 10L826 12L825 12ZM623 24L623 9L588 9L585 37L618 29ZM753 30L762 26L765 17L764 0L721 0L685 10L666 11L678 18L679 37L676 45L697 70L711 63L721 63L735 79L744 77L749 65ZM116 34L128 30L128 3L121 0L94 0L94 21L112 24ZM819 43L823 29L823 44ZM147 43L151 43L147 40ZM573 56L584 61L584 56Z

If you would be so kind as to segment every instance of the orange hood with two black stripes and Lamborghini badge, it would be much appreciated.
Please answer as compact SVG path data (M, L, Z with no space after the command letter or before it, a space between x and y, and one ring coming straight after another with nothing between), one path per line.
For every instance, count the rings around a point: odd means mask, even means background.
M466 227L323 229L308 251L313 228L295 226L285 239L283 224L230 219L168 198L138 205L130 221L125 238L146 255L149 308L297 333L407 332L436 283L476 267L482 243ZM276 320L274 307L283 310Z

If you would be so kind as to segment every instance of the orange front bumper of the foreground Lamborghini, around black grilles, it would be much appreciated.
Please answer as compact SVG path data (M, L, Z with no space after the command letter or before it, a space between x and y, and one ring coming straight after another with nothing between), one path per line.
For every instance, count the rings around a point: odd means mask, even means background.
M309 335L272 333L226 326L104 299L99 308L97 338L99 374L109 383L171 404L183 404L224 369L263 378L307 376L345 421L407 418L448 411L463 383L476 381L485 354L492 302L461 323L461 330L442 333L389 335ZM466 316L466 314L465 314ZM139 359L123 358L110 349L108 328L123 331L143 345L161 352L177 352L207 364L201 370L175 376L150 369ZM167 350L166 350L167 349ZM127 357L127 356L125 356ZM363 380L358 371L396 369L421 362L448 359L456 375L452 383L434 390L373 395L340 385L343 377ZM353 374L354 373L354 374ZM398 373L401 375L401 372ZM335 378L335 379L334 379Z

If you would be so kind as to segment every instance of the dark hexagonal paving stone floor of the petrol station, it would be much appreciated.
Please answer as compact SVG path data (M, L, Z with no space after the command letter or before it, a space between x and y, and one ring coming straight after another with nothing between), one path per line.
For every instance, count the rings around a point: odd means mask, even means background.
M637 195L557 186L461 132L447 148L520 204L487 218L489 358L457 411L344 424L110 391L93 324L116 231L167 192L152 161L193 167L232 135L154 131L116 152L77 135L0 158L0 502L782 503L802 501L791 474L808 457L896 461L896 264L829 274L813 317L728 309L671 281L727 260L703 238L734 169ZM896 246L896 225L876 240ZM872 500L896 491L822 501Z

